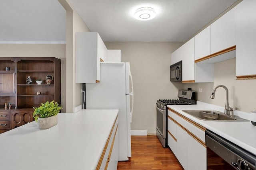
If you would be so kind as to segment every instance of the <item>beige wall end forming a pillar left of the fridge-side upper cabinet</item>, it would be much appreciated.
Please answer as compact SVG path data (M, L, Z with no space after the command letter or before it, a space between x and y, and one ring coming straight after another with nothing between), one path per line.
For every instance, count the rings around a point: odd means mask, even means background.
M82 104L81 84L76 83L76 32L90 31L68 0L59 0L66 10L66 112Z

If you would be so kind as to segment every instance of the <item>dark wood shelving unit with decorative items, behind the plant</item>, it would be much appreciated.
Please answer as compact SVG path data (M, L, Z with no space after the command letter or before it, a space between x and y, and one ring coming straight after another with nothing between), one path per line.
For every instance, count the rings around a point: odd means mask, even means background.
M54 100L61 104L60 72L60 59L54 57L0 58L0 113L10 114L8 120L0 117L0 125L10 121L0 126L0 133L33 121L33 107L42 102ZM48 75L53 77L51 84L46 83ZM32 78L30 84L26 82L28 76ZM42 79L42 84L36 84L36 79ZM11 103L11 109L5 109L5 103Z

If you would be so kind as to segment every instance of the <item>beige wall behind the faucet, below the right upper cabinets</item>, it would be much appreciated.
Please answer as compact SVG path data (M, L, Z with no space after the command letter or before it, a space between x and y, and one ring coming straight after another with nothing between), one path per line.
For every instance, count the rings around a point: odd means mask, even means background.
M214 64L214 83L184 84L184 89L192 86L192 90L197 92L199 101L224 107L226 99L224 88L218 88L215 98L210 98L213 88L220 84L228 88L229 105L233 109L248 113L256 109L256 80L236 80L236 58ZM198 88L202 88L203 91L198 92Z

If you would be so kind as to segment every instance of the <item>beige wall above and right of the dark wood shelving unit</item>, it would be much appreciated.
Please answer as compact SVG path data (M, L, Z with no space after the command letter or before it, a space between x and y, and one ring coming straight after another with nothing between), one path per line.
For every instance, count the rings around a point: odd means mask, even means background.
M0 44L0 57L56 57L61 60L61 105L66 110L66 44Z

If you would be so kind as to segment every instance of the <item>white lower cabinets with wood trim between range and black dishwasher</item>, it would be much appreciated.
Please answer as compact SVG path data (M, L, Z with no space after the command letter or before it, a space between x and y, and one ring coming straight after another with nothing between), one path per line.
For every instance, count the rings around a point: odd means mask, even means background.
M168 146L184 170L206 170L205 128L168 108Z

